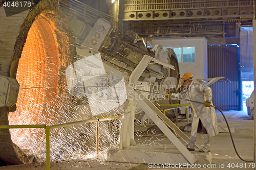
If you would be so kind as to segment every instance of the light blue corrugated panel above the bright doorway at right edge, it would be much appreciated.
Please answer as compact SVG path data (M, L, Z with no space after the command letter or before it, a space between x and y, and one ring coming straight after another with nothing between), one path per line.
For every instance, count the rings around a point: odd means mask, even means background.
M240 57L242 81L253 81L252 27L241 27L240 29Z

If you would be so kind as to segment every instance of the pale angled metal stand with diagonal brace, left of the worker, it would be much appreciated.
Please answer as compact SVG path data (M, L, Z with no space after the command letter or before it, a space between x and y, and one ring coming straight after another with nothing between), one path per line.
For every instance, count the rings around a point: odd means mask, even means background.
M170 157L172 157L173 160L175 160L178 156L178 157L183 157L190 164L194 164L197 161L197 159L193 154L191 154L191 152L189 152L186 149L185 145L177 138L175 134L179 135L185 141L185 143L189 142L189 138L173 122L171 122L168 119L168 117L166 117L152 102L150 102L150 100L148 100L141 92L134 90L134 87L137 84L137 81L141 76L142 72L145 70L148 64L154 64L154 63L159 63L165 67L174 69L174 67L170 64L167 64L165 62L162 62L160 60L157 60L155 58L145 55L130 76L129 84L132 84L132 86L130 85L126 86L126 90L128 92L128 99L130 99L128 106L131 107L133 106L133 102L136 102L143 109L143 111L148 115L148 117L150 117L153 120L153 122L159 127L159 129L166 135L166 137L175 145L175 147L179 151L179 154L170 153ZM143 97L141 98L141 96ZM130 110L131 110L130 112L125 113L123 118L119 153L123 153L126 150L128 154L130 148L132 147L131 145L133 145L132 141L134 141L134 137L132 136L134 136L134 133L133 134L131 133L131 130L132 130L131 127L134 127L134 121L133 121L134 109L130 108ZM171 128L175 134L167 126ZM130 129L130 130L127 131L127 129ZM126 133L129 133L129 134L126 134ZM131 142L129 137L131 139ZM115 154L115 155L118 155L118 154ZM170 157L168 159L170 159ZM152 157L151 159L154 159L154 158Z

